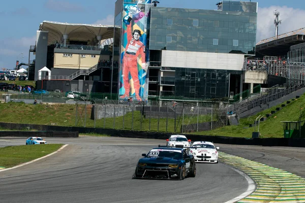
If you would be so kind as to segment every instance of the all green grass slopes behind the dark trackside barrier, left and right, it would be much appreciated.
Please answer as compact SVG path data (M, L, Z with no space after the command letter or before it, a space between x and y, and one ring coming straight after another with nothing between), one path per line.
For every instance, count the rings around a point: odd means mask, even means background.
M301 113L301 120L305 120L304 104L305 95L300 96L298 99L290 100L291 103L282 108L276 114L272 114L266 121L261 121L259 131L261 138L283 138L284 128L281 121L298 121ZM283 104L286 104L283 103ZM242 118L238 126L225 126L222 128L196 132L196 134L210 135L210 136L226 136L226 137L241 137L252 138L252 132L258 130L258 125L249 127L249 124L254 124L255 119L259 115L269 114L271 111L281 107L282 104L272 107L268 110L262 111L254 116ZM94 120L90 119L92 109L90 105L78 105L76 116L76 105L68 104L54 104L54 105L27 105L24 103L0 103L0 122L13 122L13 123L27 123L27 124L45 124L45 125L58 125L58 126L85 126L94 127ZM86 118L85 118L86 112ZM215 119L215 118L214 118ZM132 122L133 120L133 122ZM209 122L210 116L200 116L199 122ZM142 124L141 124L142 123ZM150 124L149 124L150 123ZM197 123L197 116L185 117L184 124ZM182 117L176 118L176 132L180 131L182 124ZM123 128L124 125L124 128ZM142 125L142 127L141 127ZM150 125L150 128L149 128ZM167 130L166 130L167 125ZM140 112L135 111L134 115L128 113L124 116L114 118L106 118L96 120L96 127L103 128L116 128L116 129L134 129L144 131L167 131L174 132L174 119L160 119L158 129L158 119L143 118Z

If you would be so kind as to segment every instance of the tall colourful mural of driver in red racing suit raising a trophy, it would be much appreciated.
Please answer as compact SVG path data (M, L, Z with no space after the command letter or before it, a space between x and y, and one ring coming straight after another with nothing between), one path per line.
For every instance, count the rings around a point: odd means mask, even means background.
M148 96L148 39L151 0L124 0L119 98L142 101Z

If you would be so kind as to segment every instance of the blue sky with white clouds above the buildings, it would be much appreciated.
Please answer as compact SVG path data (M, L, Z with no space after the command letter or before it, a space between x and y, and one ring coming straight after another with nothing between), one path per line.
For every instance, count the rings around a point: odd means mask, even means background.
M217 9L219 0L158 0L158 7ZM16 60L28 62L30 45L44 20L113 25L116 0L14 0L0 7L0 71L14 69ZM275 16L280 12L279 35L305 27L305 4L301 0L257 0L257 42L275 35ZM34 56L30 56L31 60ZM26 66L25 66L26 67Z

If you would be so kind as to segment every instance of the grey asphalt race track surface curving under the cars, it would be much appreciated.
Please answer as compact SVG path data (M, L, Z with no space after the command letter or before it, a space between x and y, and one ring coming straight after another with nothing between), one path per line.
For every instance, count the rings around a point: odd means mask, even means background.
M0 147L24 145L25 140L0 138ZM221 162L197 164L196 177L183 181L132 179L141 154L164 145L163 140L81 136L46 141L68 146L0 171L0 202L226 202L248 188L245 177ZM215 145L222 152L305 176L304 158L298 155L303 148Z

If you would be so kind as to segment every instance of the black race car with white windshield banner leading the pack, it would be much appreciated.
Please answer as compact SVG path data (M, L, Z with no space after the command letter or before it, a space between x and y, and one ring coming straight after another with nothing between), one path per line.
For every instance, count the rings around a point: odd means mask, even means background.
M188 149L159 147L142 154L133 178L176 179L196 176L196 163Z

